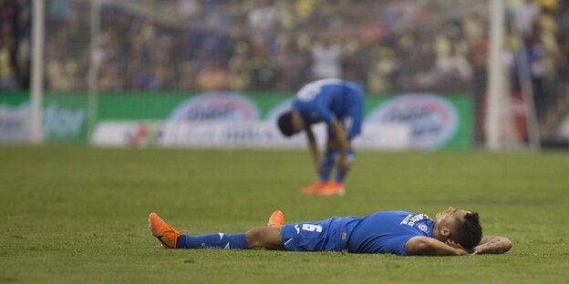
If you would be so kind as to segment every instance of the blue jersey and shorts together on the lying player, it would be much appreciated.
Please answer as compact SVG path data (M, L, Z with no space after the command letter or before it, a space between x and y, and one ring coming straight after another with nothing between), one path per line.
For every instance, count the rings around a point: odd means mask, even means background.
M281 238L286 250L393 253L408 255L410 238L433 238L435 222L426 214L379 211L364 218L329 218L285 225Z

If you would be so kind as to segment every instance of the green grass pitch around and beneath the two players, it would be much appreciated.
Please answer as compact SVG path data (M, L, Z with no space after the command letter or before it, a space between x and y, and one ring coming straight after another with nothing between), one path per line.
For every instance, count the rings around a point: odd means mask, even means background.
M343 198L303 197L306 151L0 147L0 282L560 283L569 153L357 153ZM406 209L476 210L501 256L161 249L156 211L191 234Z

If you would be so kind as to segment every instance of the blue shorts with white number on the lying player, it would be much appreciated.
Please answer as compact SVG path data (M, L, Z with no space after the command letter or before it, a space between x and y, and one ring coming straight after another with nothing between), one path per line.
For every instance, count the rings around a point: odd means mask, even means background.
M347 248L342 239L343 218L287 224L281 228L281 240L285 250L293 251L341 251ZM346 236L346 235L345 235Z

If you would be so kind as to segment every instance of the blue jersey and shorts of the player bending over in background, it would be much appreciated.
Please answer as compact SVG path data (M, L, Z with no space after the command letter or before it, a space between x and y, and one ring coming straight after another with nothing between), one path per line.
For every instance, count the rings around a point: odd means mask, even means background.
M323 79L303 86L293 100L293 110L308 125L325 122L328 139L333 138L331 124L334 118L342 122L347 138L361 132L364 93L356 83L340 79Z

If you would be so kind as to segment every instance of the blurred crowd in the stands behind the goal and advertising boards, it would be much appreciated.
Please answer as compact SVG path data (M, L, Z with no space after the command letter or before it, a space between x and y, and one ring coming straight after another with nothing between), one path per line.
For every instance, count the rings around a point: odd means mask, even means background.
M49 89L86 89L91 62L103 90L294 91L323 77L369 93L486 87L485 1L109 1L94 58L90 3L47 1ZM512 86L526 64L536 103L547 103L569 80L569 4L507 3ZM30 0L0 0L0 89L29 87L30 24Z

